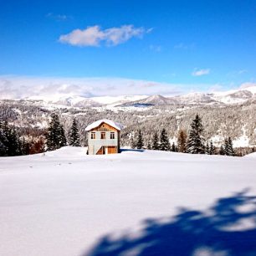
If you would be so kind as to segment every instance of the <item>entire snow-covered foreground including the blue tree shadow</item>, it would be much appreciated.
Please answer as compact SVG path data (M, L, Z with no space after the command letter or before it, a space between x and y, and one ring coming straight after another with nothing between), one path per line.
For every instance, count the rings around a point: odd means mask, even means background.
M84 148L64 147L2 157L0 254L256 255L256 209L249 197L256 195L255 166L255 153L86 156ZM246 235L229 241L223 232ZM210 233L212 242L202 243Z

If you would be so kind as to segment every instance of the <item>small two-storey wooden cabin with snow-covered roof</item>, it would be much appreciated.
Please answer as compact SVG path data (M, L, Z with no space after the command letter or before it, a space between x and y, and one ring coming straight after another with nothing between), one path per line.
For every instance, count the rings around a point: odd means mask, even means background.
M85 128L88 131L88 154L105 155L120 152L121 125L112 120L97 120Z

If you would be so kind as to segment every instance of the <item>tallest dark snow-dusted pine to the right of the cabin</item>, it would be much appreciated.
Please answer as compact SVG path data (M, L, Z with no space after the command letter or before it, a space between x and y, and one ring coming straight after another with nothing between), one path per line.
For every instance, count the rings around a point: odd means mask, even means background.
M191 130L187 141L187 152L191 154L204 154L204 138L202 120L199 115L192 120Z

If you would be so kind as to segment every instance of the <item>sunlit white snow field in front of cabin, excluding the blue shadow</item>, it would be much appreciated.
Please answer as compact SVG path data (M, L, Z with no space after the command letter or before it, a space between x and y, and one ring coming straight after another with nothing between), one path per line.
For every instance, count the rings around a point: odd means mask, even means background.
M172 218L180 207L207 209L246 188L255 195L255 166L255 154L86 156L79 147L2 157L0 254L82 255L105 234L138 235L147 218Z

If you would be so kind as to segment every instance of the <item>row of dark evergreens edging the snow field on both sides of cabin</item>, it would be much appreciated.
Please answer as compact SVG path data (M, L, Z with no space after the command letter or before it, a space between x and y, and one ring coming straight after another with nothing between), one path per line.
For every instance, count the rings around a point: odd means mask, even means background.
M64 126L59 121L59 115L50 115L49 127L44 136L36 139L19 136L13 125L0 120L0 156L22 156L44 151L54 151L62 146L81 146L77 120L74 119L65 136ZM177 144L169 141L166 129L158 134L155 132L151 140L145 145L143 133L137 131L136 136L131 137L131 147L136 149L148 149L159 151L176 151L191 154L226 155L236 156L231 137L224 140L220 148L213 146L212 141L206 141L202 119L196 115L192 120L190 130L179 130ZM253 150L252 150L253 151Z

